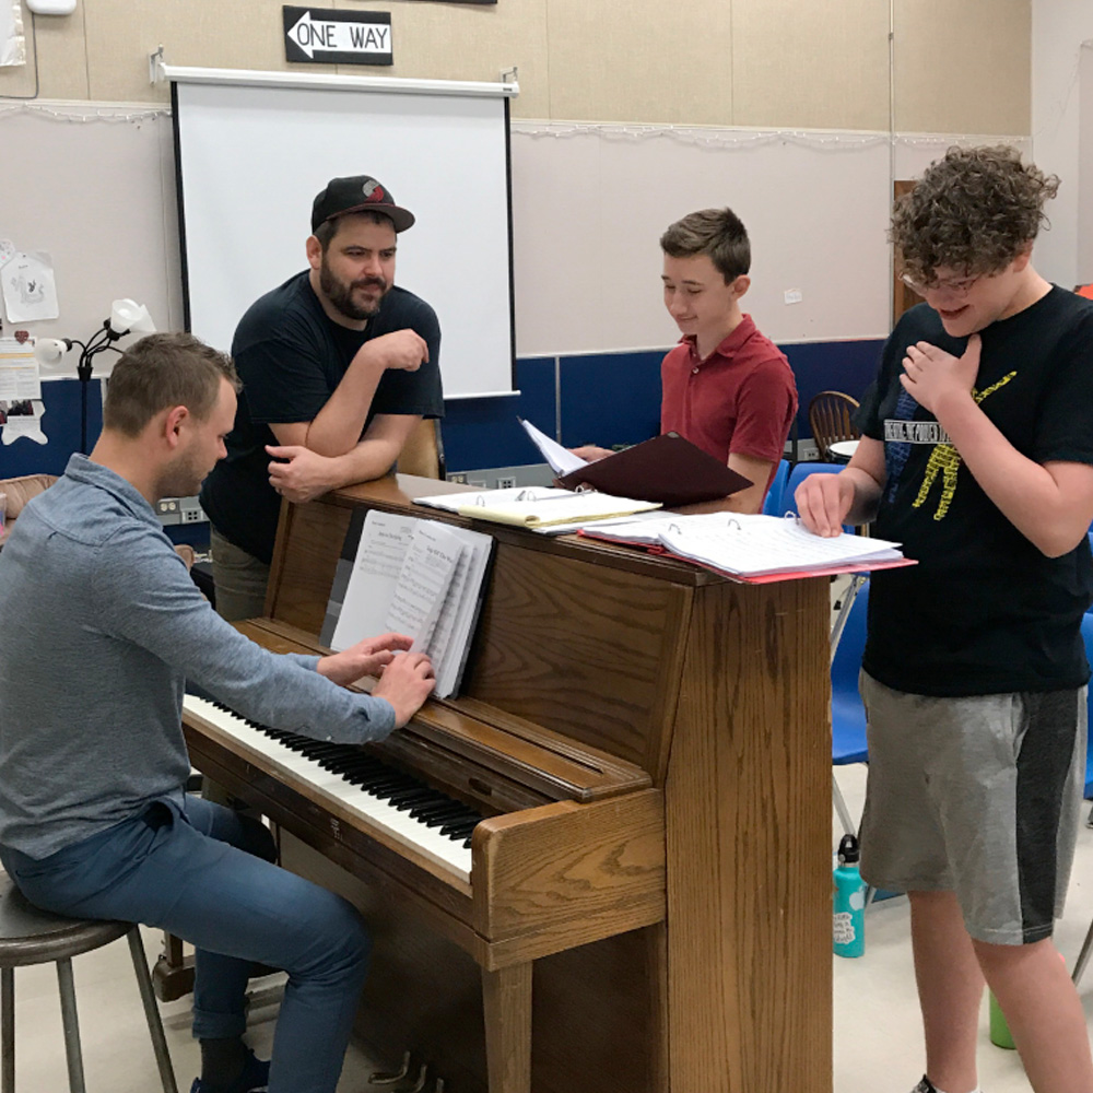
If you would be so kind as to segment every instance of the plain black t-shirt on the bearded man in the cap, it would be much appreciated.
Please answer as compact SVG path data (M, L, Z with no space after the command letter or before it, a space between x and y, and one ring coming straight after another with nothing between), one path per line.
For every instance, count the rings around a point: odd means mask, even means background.
M433 308L395 286L364 330L350 330L327 317L306 271L248 308L232 341L243 391L226 440L227 458L201 487L201 507L225 539L270 561L281 509L281 498L269 482L266 445L277 444L270 425L313 421L366 341L408 328L425 340L428 361L416 372L384 373L365 428L381 413L444 415L440 326Z

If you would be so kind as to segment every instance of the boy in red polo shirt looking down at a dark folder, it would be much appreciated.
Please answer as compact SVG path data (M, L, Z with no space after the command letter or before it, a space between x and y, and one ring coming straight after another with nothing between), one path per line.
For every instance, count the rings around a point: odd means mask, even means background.
M740 299L751 286L751 245L731 209L704 209L660 237L665 306L683 334L660 366L660 431L675 432L754 484L689 510L759 513L797 413L785 355ZM585 459L607 448L576 448Z

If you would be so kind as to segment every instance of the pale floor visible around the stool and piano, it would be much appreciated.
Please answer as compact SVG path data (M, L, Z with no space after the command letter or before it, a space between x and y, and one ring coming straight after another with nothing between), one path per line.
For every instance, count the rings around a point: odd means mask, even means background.
M860 813L863 767L841 767L839 785L851 813ZM1086 806L1088 808L1088 806ZM833 837L838 832L833 825ZM1093 830L1082 827L1067 916L1057 942L1071 965L1093 919ZM907 1093L921 1073L921 1033L915 999L904 898L871 907L866 919L866 955L833 957L835 979L835 1093ZM145 935L149 959L160 939ZM84 1065L91 1093L155 1093L160 1089L137 984L125 941L77 957ZM249 1039L268 1056L277 1016L277 979L257 986ZM1081 985L1093 1016L1093 968ZM16 991L16 1088L21 1093L67 1090L60 1013L52 967L20 968ZM189 1035L189 1002L162 1007L179 1089L188 1091L198 1068L197 1045ZM1030 1086L1014 1051L990 1044L984 1009L979 1051L985 1093L1027 1093ZM351 1048L340 1093L364 1093L375 1069ZM426 1089L432 1090L432 1082ZM378 1089L378 1088L377 1088ZM387 1086L390 1089L390 1086ZM575 1091L585 1093L585 1091Z

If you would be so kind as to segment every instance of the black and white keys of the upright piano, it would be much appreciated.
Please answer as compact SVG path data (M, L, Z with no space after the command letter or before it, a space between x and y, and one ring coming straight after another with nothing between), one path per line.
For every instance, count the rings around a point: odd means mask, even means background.
M360 820L362 830L379 828L470 883L471 832L482 819L470 806L351 744L271 729L196 695L186 695L183 708L266 756L271 773L286 768L318 797L337 800Z

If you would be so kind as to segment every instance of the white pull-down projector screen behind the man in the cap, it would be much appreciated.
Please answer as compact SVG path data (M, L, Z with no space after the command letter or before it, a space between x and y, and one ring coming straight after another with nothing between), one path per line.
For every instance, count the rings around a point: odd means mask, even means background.
M411 94L362 86L398 81L256 86L167 75L192 333L231 349L243 313L307 268L315 195L330 178L373 175L416 216L399 236L395 283L427 301L440 320L445 397L512 393L508 98L502 85L492 95Z

